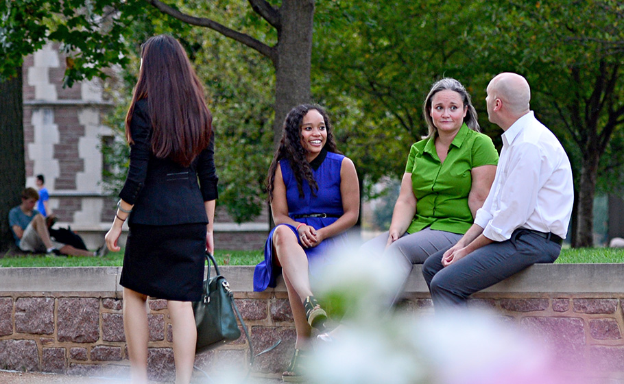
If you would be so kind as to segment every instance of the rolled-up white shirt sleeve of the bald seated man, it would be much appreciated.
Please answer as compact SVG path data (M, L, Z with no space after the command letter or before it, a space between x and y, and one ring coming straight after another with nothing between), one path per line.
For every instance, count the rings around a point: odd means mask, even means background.
M486 199L483 204L483 208L489 208L489 212L477 212L475 218L475 224L483 227L485 237L494 241L508 240L514 230L527 222L536 207L541 164L540 148L531 143L518 145L509 154L509 160L500 175L504 180L499 185L496 181L492 185L492 189L498 189L494 200L488 202Z

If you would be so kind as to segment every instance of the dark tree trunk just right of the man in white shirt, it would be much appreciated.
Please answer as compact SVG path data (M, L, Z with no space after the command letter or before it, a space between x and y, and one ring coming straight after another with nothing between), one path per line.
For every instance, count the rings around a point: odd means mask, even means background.
M598 160L599 154L597 152L590 152L581 160L576 238L578 247L592 247L594 245L594 195Z

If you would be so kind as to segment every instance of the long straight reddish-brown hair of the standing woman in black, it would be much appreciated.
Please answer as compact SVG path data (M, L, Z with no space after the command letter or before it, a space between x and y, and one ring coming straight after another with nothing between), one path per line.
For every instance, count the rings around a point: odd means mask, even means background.
M204 87L187 53L171 36L149 38L141 49L139 81L125 116L125 137L132 144L130 122L136 101L147 98L152 123L152 152L188 167L208 146L213 117L204 100Z

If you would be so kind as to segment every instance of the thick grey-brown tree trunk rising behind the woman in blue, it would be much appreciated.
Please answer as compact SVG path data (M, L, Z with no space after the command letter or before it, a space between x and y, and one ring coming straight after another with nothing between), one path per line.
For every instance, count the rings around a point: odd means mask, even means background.
M313 0L284 0L280 7L275 63L274 143L282 136L282 126L289 110L311 102Z

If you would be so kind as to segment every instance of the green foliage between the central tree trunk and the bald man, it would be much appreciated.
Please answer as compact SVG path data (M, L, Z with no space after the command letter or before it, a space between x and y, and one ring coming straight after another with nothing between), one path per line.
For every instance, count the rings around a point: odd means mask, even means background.
M435 80L457 78L473 93L477 110L479 104L485 109L479 100L485 98L481 68L472 66L473 53L466 49L483 19L480 5L433 0L318 3L313 91L330 111L337 111L337 137L367 176L365 195L383 176L400 178L410 145L427 134L422 103ZM480 97L474 98L477 90Z

